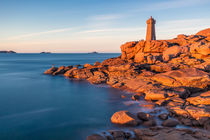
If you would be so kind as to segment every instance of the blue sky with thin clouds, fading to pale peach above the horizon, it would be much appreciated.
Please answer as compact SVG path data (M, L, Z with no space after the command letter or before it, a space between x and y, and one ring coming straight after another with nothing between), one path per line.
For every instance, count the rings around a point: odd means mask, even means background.
M157 39L210 28L210 0L0 0L0 50L20 53L120 52L146 37Z

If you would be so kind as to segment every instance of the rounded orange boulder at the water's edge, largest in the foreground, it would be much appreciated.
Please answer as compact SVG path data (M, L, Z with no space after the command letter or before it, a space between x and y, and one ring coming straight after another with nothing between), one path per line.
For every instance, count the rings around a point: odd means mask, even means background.
M128 111L119 111L112 115L111 122L121 125L137 126L140 121Z

